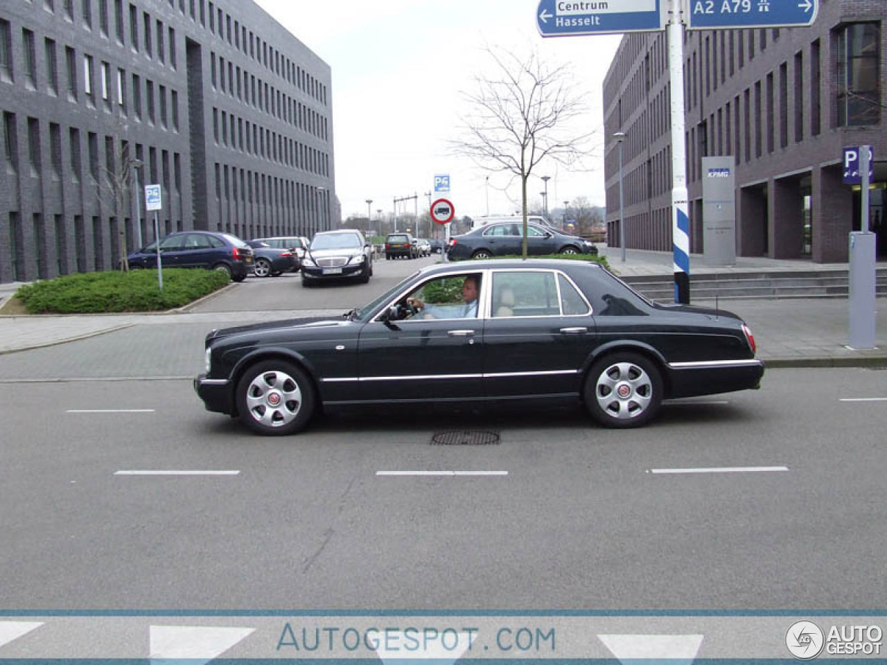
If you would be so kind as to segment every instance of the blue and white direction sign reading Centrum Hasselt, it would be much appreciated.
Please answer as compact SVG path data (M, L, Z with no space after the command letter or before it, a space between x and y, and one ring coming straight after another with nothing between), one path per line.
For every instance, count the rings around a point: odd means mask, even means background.
M540 0L536 24L543 37L662 30L662 3L663 0Z

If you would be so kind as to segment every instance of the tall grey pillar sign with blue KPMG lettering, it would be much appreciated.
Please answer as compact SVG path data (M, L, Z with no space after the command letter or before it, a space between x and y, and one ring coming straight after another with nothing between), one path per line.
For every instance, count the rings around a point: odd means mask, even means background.
M733 157L703 157L703 255L710 265L736 262Z

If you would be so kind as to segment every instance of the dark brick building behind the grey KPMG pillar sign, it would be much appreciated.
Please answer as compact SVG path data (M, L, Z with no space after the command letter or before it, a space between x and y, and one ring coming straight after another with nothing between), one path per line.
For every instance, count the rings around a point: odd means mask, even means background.
M811 27L687 30L684 38L690 249L703 252L702 158L732 156L736 253L845 262L860 188L844 146L872 145L869 219L887 257L887 4L820 0ZM604 82L608 238L619 243L624 132L626 246L671 251L666 31L624 36Z

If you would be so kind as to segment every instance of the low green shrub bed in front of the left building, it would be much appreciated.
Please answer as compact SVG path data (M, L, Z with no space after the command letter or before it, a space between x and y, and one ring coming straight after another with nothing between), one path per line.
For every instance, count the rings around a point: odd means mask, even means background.
M15 297L28 314L149 312L182 307L226 286L231 278L216 270L87 272L22 286Z

